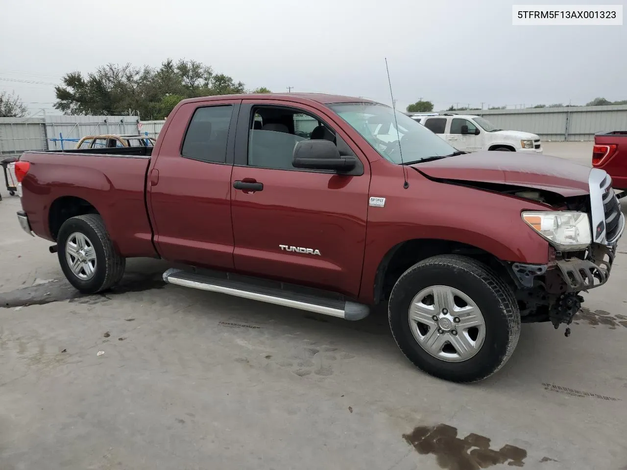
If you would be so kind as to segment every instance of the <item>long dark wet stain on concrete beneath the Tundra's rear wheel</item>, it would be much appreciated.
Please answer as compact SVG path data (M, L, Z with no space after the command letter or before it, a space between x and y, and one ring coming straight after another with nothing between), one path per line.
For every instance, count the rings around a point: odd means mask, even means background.
M141 292L161 289L166 286L158 273L127 273L119 285L98 295L85 295L77 291L65 278L53 279L47 283L35 283L33 286L0 293L0 308L14 308L28 305L45 305L51 302L73 301L77 303L103 303L111 300L110 296L129 292Z

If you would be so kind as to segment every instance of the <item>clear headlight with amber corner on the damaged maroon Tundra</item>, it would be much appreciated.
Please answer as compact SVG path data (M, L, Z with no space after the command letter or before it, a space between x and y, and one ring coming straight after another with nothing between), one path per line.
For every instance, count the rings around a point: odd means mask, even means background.
M523 212L522 219L559 251L584 249L592 242L585 212Z

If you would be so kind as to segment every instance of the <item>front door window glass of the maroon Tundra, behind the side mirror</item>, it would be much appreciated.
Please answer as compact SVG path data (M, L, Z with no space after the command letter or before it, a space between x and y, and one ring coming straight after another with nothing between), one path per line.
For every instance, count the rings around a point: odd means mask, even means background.
M294 147L301 140L337 137L318 118L300 110L258 107L248 130L248 165L277 170L300 170L292 165Z

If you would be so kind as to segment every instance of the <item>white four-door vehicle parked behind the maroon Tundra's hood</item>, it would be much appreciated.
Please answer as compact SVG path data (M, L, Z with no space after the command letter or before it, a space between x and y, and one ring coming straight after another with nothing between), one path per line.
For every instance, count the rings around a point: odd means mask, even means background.
M438 134L458 150L503 150L542 154L540 137L529 132L503 130L487 119L475 115L412 115L424 127Z

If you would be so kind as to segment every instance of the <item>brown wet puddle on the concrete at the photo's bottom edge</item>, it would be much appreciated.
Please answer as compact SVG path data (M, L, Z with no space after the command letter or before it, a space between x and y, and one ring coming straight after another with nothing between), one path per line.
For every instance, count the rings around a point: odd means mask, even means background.
M433 454L438 465L445 470L480 470L498 464L522 467L527 451L520 447L505 446L490 449L490 439L478 434L468 434L460 439L457 428L447 424L418 426L403 438L419 454Z

